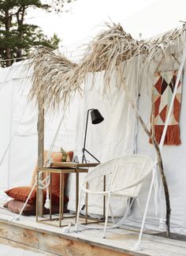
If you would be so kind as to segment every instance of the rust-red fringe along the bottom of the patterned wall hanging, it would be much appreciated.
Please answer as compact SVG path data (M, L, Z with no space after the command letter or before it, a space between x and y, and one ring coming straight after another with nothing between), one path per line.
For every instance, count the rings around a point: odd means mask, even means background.
M155 131L155 138L156 141L161 141L162 132L163 132L164 126L154 126ZM149 141L152 144L152 141ZM180 145L180 126L174 125L174 126L168 126L166 130L166 137L164 141L164 145Z

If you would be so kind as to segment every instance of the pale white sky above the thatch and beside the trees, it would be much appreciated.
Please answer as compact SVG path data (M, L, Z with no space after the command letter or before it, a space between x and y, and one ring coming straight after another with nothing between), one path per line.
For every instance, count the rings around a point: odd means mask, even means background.
M61 51L68 58L79 58L78 49L106 29L105 22L120 23L139 39L149 38L186 21L186 0L76 0L66 4L68 13L32 13L30 20L48 36L57 33Z

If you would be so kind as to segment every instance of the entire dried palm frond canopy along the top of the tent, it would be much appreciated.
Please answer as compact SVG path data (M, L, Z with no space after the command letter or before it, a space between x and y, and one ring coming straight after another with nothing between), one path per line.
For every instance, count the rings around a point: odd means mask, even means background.
M87 73L105 70L105 85L108 86L111 73L121 62L138 55L151 61L155 53L165 55L168 47L184 41L184 27L151 40L134 40L121 25L107 25L109 29L88 44L79 64L46 48L39 48L31 56L34 74L30 100L44 104L47 111L55 111L59 104L68 105L76 91L80 92Z

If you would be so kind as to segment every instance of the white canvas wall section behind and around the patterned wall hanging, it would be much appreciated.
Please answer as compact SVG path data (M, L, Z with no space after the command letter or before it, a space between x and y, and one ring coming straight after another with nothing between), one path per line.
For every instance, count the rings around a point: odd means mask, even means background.
M184 44L185 45L185 44ZM183 45L183 47L185 47ZM154 85L154 73L157 71L157 64L160 62L161 65L158 66L158 71L161 70L178 70L180 67L180 62L183 54L183 48L177 46L177 61L175 61L175 58L172 57L172 52L175 49L169 49L169 51L166 52L166 56L161 60L160 56L156 56L154 58L154 61L151 62L151 68L146 76L141 77L140 81L140 91L139 91L139 113L142 116L143 120L146 123L149 123L150 128L150 122L149 118L151 116L151 99L148 96L151 94L151 85ZM185 69L185 62L184 62L184 69ZM148 82L147 82L148 81ZM180 137L181 137L181 145L179 146L173 146L173 145L166 145L163 146L162 149L162 158L163 158L163 164L165 168L165 174L169 186L169 196L170 196L170 204L171 204L171 227L173 228L173 232L179 232L182 234L185 234L185 205L184 205L184 180L185 180L185 174L184 174L184 168L185 168L185 162L184 162L184 152L185 152L185 135L184 135L184 126L185 126L185 118L184 118L184 109L185 109L185 70L182 73L181 81L183 82L182 87L182 101L181 101L181 111L180 111ZM136 152L139 153L145 153L147 155L153 156L154 155L154 149L149 144L146 135L144 134L141 126L138 126L138 133L137 133L137 149ZM183 171L183 172L182 172ZM141 191L141 200L144 199L144 195L146 194L145 190L147 188L143 187L143 190ZM182 198L183 197L183 198ZM162 192L159 194L159 198L162 201L158 201L159 204L159 215L164 218L166 218L166 206L164 201L164 193ZM182 198L182 199L181 199ZM153 198L152 198L153 199ZM163 208L162 208L162 202ZM154 201L151 200L151 205L148 210L148 216L147 216L147 222L150 223L156 223L158 221L157 217L154 217L154 220L150 216L153 216L155 212L154 209ZM133 211L134 215L131 216L131 220L139 220L139 216L136 215L135 211ZM179 216L179 217L178 217ZM130 219L130 218L129 218ZM178 220L179 219L179 220Z

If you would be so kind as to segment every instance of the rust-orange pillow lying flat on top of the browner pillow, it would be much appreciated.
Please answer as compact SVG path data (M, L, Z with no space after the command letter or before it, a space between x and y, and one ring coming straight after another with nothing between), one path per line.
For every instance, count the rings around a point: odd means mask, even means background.
M32 190L31 186L17 186L17 187L14 187L13 189L6 190L5 193L10 198L14 198L18 201L26 201L28 198L28 194L30 193L31 190ZM37 190L34 189L32 191L30 198L28 199L28 204L35 205L36 193L37 193ZM44 202L46 200L46 195L47 195L47 191L43 190ZM64 202L66 202L66 201L68 201L68 198L64 197ZM52 204L58 205L58 203L59 203L58 195L52 193Z

